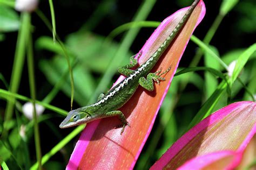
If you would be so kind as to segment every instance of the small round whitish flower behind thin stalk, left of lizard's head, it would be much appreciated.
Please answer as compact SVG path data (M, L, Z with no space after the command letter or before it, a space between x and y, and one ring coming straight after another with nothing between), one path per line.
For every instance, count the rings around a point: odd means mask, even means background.
M45 108L42 105L36 104L36 115L42 115L44 112ZM22 106L22 111L23 114L25 115L26 118L28 119L33 119L33 104L31 102L26 102Z

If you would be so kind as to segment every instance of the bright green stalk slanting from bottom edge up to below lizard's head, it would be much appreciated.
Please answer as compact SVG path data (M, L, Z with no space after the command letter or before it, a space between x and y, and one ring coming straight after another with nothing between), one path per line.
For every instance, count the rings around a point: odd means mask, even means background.
M55 145L55 147L53 147L51 149L50 152L46 153L43 156L42 159L42 165L45 164L45 162L47 162L52 155L54 155L55 153L57 153L59 150L61 150L66 144L68 144L70 142L70 140L72 140L74 137L77 136L77 134L79 134L83 129L84 129L84 125L80 125L78 126L75 130L73 130L71 133L69 133L68 136L66 136L64 139L62 139L57 145ZM36 162L36 164L34 164L30 170L36 169L38 166L38 162Z

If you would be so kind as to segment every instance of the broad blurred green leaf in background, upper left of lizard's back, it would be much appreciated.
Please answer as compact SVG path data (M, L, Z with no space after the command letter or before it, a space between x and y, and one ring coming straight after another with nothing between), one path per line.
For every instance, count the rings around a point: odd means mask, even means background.
M105 73L112 62L112 56L116 54L119 48L119 44L116 42L104 44L104 40L105 37L91 32L79 32L70 34L66 40L66 45L83 63L84 67L94 72ZM131 53L126 54L125 60L120 65L129 62L132 55Z

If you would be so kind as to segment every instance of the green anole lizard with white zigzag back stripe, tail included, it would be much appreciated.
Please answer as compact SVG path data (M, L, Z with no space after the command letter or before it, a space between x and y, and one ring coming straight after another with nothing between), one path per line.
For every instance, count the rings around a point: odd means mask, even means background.
M126 121L122 111L119 111L118 109L129 101L139 85L149 91L153 91L153 81L159 83L159 80L165 80L163 77L161 77L161 75L168 72L170 68L161 74L159 74L161 69L156 73L150 73L150 70L154 67L154 65L156 65L160 56L164 53L165 49L170 45L172 40L186 23L199 1L200 0L195 0L193 2L183 18L181 18L180 22L176 25L176 27L174 27L173 31L165 39L163 44L159 46L156 52L154 52L150 58L147 59L147 61L145 61L137 69L132 70L131 68L138 64L138 60L134 59L134 56L131 56L129 64L118 68L118 72L125 75L126 78L108 91L107 94L100 94L96 103L71 110L68 116L66 116L64 121L59 125L59 128L69 128L71 126L89 123L104 117L118 116L123 126L121 131L122 134L125 126L130 125ZM139 53L139 56L140 55L142 55L142 52ZM146 79L145 76L147 76Z

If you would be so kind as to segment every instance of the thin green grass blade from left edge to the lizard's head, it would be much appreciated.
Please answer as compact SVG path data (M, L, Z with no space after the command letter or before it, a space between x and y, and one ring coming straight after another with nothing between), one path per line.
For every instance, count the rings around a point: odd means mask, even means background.
M5 96L3 96L3 95L5 95ZM11 93L10 91L6 91L4 89L0 89L0 96L1 97L5 97L6 100L12 100L12 97L14 97L14 98L17 98L17 99L22 100L22 101L32 102L31 98L28 98L28 97L25 97L25 96L22 96L22 95L19 95L19 94L16 94L16 93ZM8 97L6 97L6 96L8 96ZM57 108L57 107L55 107L53 105L50 105L50 104L47 104L47 103L44 103L44 102L41 102L41 101L37 101L37 100L35 102L37 104L42 105L46 109L49 109L49 110L57 112L58 114L60 114L62 116L66 116L68 114L68 111L65 111L63 109Z

